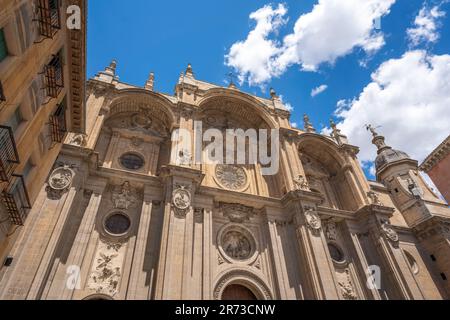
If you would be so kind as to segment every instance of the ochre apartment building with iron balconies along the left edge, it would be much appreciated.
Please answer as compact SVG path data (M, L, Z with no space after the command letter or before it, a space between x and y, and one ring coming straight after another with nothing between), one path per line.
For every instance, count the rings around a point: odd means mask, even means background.
M0 0L2 265L66 133L85 130L85 17L84 0Z

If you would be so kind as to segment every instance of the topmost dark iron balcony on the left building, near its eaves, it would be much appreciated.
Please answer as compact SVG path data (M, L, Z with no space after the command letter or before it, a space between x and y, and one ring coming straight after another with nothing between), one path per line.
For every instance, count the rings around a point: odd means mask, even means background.
M36 19L39 33L44 38L53 39L61 29L59 0L36 0Z

